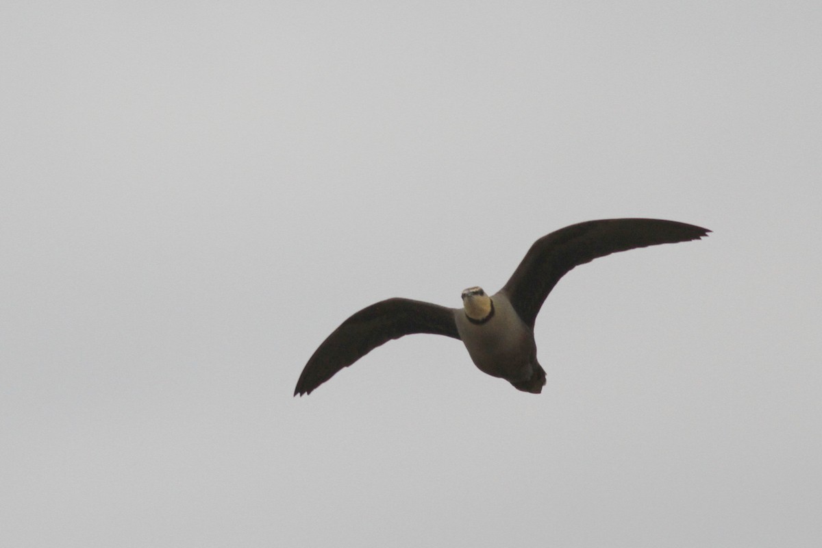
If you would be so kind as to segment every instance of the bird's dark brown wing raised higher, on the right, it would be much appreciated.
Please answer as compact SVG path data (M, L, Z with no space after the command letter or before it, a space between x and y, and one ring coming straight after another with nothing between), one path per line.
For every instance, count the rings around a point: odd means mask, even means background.
M709 232L693 224L661 219L603 219L572 224L533 242L502 291L533 329L548 293L575 266L617 251L697 240Z

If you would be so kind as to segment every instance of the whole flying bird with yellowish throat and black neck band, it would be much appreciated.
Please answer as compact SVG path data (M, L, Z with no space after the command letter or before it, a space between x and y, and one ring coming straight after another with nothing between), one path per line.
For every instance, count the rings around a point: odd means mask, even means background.
M311 394L374 348L414 333L458 338L480 371L505 379L516 389L539 394L545 385L545 370L537 361L533 325L562 276L575 266L617 251L698 240L709 232L662 219L603 219L561 228L533 242L514 274L494 295L473 287L462 292L462 308L395 297L358 311L316 349L294 395Z

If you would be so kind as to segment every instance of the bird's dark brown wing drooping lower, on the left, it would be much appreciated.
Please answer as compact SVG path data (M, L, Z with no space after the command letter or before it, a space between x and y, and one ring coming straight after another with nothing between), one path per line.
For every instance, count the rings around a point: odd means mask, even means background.
M392 338L430 333L459 338L454 311L445 306L393 298L366 306L345 320L317 348L297 381L294 395L311 394L343 367Z

